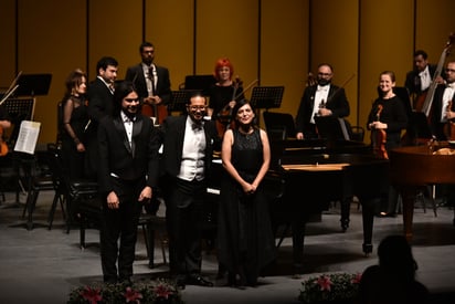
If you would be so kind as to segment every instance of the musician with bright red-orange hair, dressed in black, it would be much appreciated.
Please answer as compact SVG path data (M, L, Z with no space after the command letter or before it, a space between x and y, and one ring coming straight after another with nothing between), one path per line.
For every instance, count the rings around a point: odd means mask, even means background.
M239 78L232 80L234 66L228 57L215 62L213 75L216 83L209 90L208 116L216 122L219 135L222 136L230 124L232 108L236 101L243 99L243 85Z

